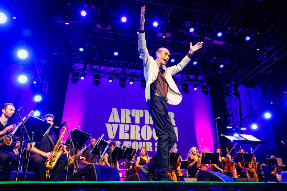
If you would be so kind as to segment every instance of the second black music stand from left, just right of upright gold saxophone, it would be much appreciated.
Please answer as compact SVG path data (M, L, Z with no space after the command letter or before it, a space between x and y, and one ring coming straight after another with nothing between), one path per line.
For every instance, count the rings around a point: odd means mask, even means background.
M85 132L78 130L78 129L74 129L74 131L71 133L71 139L72 139L72 142L74 144L74 157L75 157L73 174L75 173L75 168L76 168L77 150L81 149L90 137L91 137L90 134L85 133ZM70 142L70 138L68 138L67 141ZM71 145L70 145L70 147L71 147ZM68 168L68 166L67 166L67 168Z

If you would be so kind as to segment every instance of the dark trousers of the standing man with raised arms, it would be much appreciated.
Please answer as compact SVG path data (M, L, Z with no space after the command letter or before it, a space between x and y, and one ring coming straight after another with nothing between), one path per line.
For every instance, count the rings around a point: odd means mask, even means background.
M168 152L177 141L174 127L170 120L167 110L167 102L158 96L152 96L147 102L147 108L155 127L155 134L158 137L158 147L152 160L150 160L149 169L155 168L158 178L164 176L168 167Z

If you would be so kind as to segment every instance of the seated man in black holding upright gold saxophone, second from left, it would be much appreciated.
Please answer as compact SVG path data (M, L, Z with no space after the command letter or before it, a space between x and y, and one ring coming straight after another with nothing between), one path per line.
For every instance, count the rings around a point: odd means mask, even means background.
M49 113L44 115L42 119L47 120L48 123L53 123L54 115ZM29 165L30 167L33 168L33 172L35 172L37 181L44 181L44 164L47 159L53 158L51 152L53 151L54 145L56 143L57 143L56 134L51 130L42 138L40 142L33 141ZM28 152L29 149L30 149L30 142L27 145ZM49 181L57 181L62 171L65 169L66 165L67 165L67 158L64 156L60 156Z

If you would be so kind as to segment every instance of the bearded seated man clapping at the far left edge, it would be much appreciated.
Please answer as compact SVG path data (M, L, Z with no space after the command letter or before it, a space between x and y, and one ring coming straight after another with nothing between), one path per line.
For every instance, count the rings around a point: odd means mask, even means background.
M8 124L9 118L15 112L15 108L12 103L7 103L2 105L1 107L1 117L0 117L0 137L4 136L7 133L11 133L16 125ZM8 166L4 167L0 171L0 181L4 180L13 170L17 170L18 162L19 162L19 155L15 153L11 153L8 151L4 151L0 146L0 165L2 164L9 164ZM24 163L25 158L21 157L21 165Z

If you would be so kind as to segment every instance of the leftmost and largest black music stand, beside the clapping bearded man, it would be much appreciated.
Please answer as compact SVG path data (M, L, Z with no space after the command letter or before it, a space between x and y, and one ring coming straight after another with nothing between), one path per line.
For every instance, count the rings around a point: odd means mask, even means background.
M47 121L36 118L32 115L28 115L27 118L25 118L25 120L23 121L23 124L25 125L27 129L27 134L22 133L21 128L18 128L16 132L14 133L14 135L20 135L20 136L24 135L24 137L27 139L29 139L28 137L32 137L31 144L30 144L30 150L28 154L27 165L25 167L25 172L22 174L22 176L25 174L24 181L26 181L26 175L27 175L27 170L28 170L29 161L30 161L32 144L33 142L40 142L42 138L46 135L46 133L49 132L49 130L53 126L53 123L50 124Z

